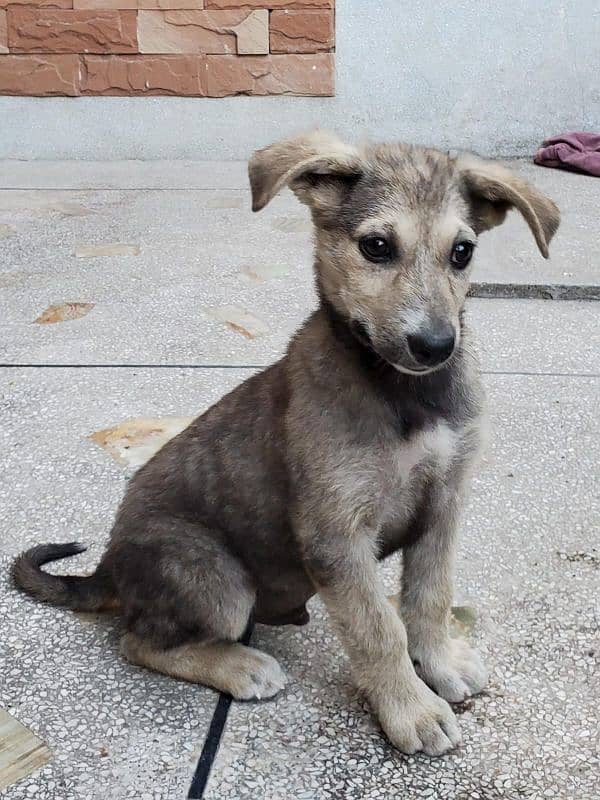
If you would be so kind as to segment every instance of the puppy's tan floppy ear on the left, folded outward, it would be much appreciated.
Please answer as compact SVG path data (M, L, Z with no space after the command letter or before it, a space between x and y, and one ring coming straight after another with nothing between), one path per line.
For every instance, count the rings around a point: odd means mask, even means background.
M310 204L318 176L361 174L359 152L328 131L313 131L257 150L248 164L252 210L260 211L284 186Z

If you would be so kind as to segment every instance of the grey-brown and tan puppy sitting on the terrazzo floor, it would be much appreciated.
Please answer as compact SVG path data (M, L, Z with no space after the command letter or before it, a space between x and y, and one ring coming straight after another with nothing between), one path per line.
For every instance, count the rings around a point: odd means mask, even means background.
M118 606L129 661L238 699L285 684L239 643L249 620L304 624L318 592L390 741L440 755L460 741L448 702L486 683L448 633L483 416L463 312L471 257L510 208L547 257L559 213L472 156L321 131L258 151L249 172L255 211L284 186L310 208L318 309L281 361L139 470L93 575L43 572L84 549L50 544L14 578L49 603ZM398 614L377 562L400 549Z

